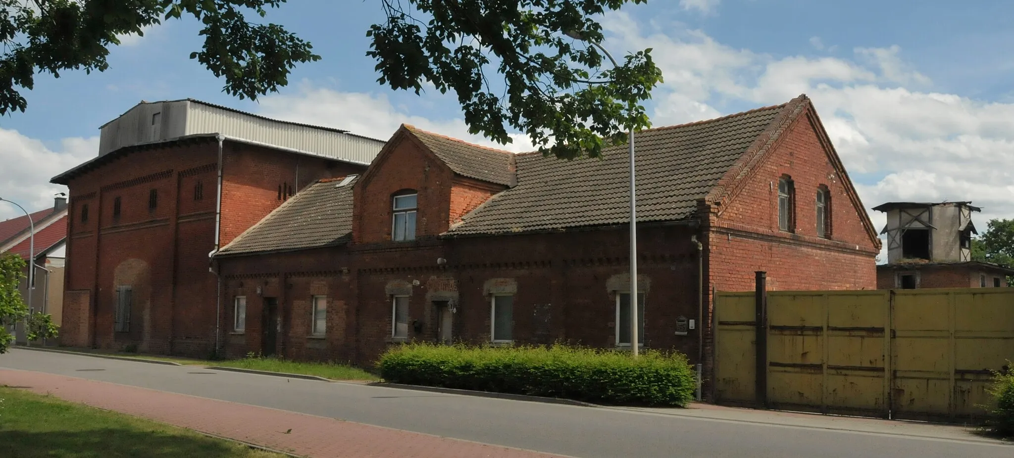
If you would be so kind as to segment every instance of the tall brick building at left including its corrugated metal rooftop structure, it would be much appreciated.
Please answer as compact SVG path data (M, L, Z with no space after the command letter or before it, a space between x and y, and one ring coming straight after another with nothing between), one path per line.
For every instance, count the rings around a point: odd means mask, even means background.
M198 100L141 102L101 127L70 188L62 342L207 357L210 255L323 177L360 173L383 142Z

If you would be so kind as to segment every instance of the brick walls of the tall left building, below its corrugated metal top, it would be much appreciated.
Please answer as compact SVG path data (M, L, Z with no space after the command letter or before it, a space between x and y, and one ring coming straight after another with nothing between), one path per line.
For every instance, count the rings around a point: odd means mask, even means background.
M65 326L64 341L196 357L213 351L216 279L208 253L214 248L217 147L214 139L154 146L111 157L70 179L65 313L87 315L78 304L87 291L96 318L87 326ZM285 179L291 177L296 190L297 166L300 184L364 169L231 142L224 159L223 244L281 204L278 186ZM119 285L133 288L127 332L113 330Z

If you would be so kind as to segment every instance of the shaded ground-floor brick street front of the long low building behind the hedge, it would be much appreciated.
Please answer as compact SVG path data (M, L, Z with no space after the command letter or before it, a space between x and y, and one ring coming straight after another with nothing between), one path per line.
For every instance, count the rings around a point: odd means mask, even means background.
M697 319L696 247L685 227L644 227L639 231L641 289L646 292L645 337L649 348L676 349L697 359L697 334L675 335L679 316ZM284 354L294 359L350 360L370 365L391 339L391 285L410 293L409 322L419 320L410 337L437 336L434 301L456 306L455 338L489 341L490 282L516 286L513 333L516 342L556 340L613 347L615 291L629 288L626 228L572 234L514 235L495 238L430 240L411 244L371 244L296 253L221 259L232 296L247 296L247 331L230 336L228 354L256 352L259 312L248 279L282 276L291 285L280 299L290 315ZM345 254L343 254L345 253ZM437 265L436 259L448 259ZM343 268L351 268L343 273ZM330 272L328 272L330 271ZM272 274L272 273L283 274ZM239 282L244 287L237 289ZM418 285L414 285L418 282ZM309 298L314 284L329 299L325 342L307 338ZM225 298L231 304L231 297ZM334 305L333 305L334 304ZM336 314L338 316L336 317ZM225 319L231 322L231 318Z

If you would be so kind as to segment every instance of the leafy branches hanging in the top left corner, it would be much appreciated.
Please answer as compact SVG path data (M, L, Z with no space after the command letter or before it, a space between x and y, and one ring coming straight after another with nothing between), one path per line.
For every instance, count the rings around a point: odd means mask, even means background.
M285 1L0 0L0 114L24 111L19 88L30 90L37 73L104 71L120 36L184 16L204 24L204 46L190 58L224 77L224 92L240 99L277 92L297 63L320 59L281 25L247 21Z

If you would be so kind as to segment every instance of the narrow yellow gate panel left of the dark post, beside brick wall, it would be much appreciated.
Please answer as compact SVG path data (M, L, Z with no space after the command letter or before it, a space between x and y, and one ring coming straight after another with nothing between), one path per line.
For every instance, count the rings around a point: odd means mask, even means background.
M753 293L715 297L715 401L752 405L756 352Z

